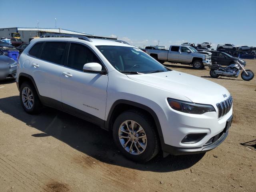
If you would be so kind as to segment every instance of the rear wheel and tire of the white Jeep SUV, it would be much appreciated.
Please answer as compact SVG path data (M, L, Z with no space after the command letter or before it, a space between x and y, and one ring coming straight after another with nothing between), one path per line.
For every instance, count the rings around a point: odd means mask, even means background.
M24 82L20 86L20 101L23 109L29 114L41 112L42 104L36 89L30 82Z

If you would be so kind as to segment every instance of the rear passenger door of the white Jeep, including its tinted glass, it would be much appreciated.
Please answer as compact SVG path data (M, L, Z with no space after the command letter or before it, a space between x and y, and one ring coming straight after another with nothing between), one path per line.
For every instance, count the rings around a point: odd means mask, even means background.
M40 96L61 102L60 72L66 42L40 42L29 51L31 76L36 82ZM36 54L36 56L33 56ZM48 103L51 104L51 103Z

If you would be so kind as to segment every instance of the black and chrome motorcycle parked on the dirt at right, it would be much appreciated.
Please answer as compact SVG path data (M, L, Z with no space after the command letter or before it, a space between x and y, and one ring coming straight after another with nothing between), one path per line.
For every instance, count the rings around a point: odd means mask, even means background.
M210 66L210 76L213 78L218 78L219 76L238 77L240 70L242 70L241 77L243 80L250 81L254 78L254 73L251 70L245 70L244 65L238 61L234 62L234 64L226 67L218 65L215 62Z

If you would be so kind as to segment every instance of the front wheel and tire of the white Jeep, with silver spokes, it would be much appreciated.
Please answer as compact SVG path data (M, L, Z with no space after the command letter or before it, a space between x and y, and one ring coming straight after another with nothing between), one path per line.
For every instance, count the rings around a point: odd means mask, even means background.
M160 148L154 122L139 110L123 112L116 118L113 138L120 152L136 162L149 161Z

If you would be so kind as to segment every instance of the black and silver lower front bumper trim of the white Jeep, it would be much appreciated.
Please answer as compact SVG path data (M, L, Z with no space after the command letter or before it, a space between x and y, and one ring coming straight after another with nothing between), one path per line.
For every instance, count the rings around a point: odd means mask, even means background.
M162 145L163 152L172 155L187 155L187 154L198 154L210 151L217 146L219 146L228 136L228 132L223 133L222 136L213 144L208 146L196 147L196 148L181 148L181 147L174 147L167 144Z

